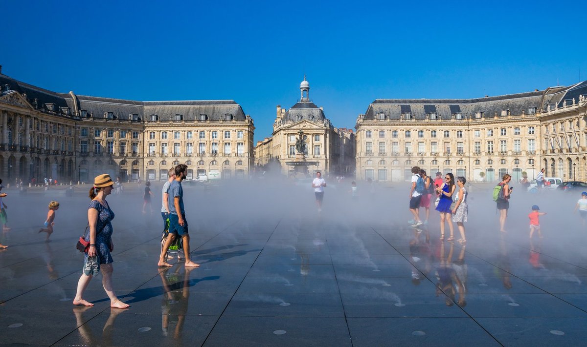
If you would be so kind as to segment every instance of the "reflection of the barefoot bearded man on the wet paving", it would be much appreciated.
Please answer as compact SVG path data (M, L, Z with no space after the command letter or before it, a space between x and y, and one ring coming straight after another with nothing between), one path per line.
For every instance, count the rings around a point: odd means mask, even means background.
M183 269L183 272L181 271ZM161 329L163 336L169 336L170 325L173 328L173 338L181 344L181 333L187 314L187 305L190 300L190 272L193 267L176 267L176 271L171 272L171 268L166 268L159 274L163 283L163 300L161 301Z

